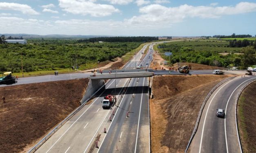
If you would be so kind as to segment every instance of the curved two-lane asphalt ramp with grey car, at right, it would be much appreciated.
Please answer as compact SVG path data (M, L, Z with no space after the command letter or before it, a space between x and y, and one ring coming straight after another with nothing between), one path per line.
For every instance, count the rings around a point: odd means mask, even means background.
M189 146L191 153L242 153L236 129L236 98L242 87L256 76L236 77L220 85L208 99L198 130ZM216 116L225 111L225 118Z

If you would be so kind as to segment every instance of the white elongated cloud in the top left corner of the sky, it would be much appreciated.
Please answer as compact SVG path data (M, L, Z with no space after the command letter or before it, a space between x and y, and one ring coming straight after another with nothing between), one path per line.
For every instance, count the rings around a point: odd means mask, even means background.
M29 14L29 15L39 14L37 11L33 10L29 5L18 4L18 3L0 2L0 10L21 11L23 14Z

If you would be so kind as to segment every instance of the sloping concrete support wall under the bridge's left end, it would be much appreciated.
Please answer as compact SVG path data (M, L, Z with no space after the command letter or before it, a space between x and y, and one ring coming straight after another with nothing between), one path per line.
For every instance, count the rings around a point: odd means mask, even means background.
M104 80L91 80L89 81L85 94L82 98L82 100L80 101L80 104L82 105L83 103L85 103L85 101L89 98L92 97L92 95L100 89L100 87L102 87L105 84Z

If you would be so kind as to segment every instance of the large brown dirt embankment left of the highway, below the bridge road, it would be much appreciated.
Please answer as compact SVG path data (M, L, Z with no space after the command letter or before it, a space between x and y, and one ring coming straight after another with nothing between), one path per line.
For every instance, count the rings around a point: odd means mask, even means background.
M89 79L0 88L0 152L16 153L42 138L79 106Z

